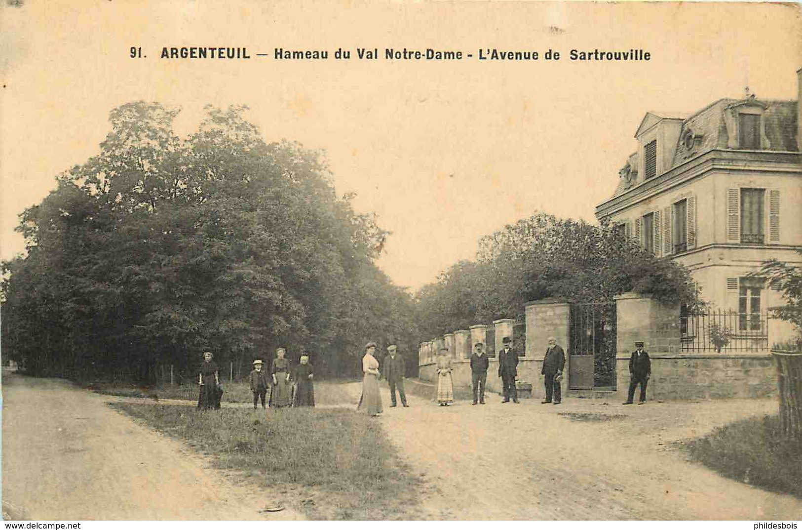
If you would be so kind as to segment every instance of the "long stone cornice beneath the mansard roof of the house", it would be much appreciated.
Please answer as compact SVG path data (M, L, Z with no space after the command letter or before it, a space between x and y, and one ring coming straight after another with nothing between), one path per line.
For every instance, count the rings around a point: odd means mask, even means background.
M618 211L662 194L675 186L703 177L711 171L773 172L802 174L802 154L794 151L755 151L745 149L711 149L666 173L638 184L624 193L596 206L596 218L601 219Z

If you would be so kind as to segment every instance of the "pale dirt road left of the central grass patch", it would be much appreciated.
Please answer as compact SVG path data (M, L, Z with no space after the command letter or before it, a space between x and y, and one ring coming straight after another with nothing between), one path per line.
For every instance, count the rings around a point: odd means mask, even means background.
M67 382L3 375L3 510L36 520L277 520L263 490Z

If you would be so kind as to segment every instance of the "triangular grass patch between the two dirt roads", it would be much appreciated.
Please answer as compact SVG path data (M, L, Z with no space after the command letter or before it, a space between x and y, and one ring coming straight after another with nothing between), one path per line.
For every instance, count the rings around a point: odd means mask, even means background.
M376 420L346 409L197 412L188 406L116 403L196 450L241 471L313 519L410 519L419 480ZM303 487L301 489L300 487Z

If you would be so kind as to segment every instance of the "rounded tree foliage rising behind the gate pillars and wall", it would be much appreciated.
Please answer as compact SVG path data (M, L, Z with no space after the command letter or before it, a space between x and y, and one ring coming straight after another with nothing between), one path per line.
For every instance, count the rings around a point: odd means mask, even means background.
M695 308L691 276L610 226L534 214L480 240L475 262L461 261L417 296L423 337L500 318L523 320L524 304L551 296L611 300L626 291Z

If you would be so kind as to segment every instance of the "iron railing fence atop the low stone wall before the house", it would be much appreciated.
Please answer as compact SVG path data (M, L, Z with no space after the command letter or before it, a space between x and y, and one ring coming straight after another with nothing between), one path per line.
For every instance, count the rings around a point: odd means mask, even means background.
M768 312L704 312L679 317L685 352L768 352Z

